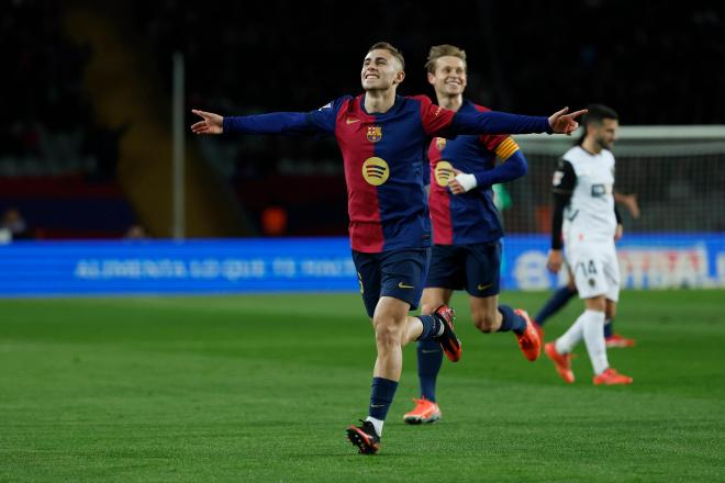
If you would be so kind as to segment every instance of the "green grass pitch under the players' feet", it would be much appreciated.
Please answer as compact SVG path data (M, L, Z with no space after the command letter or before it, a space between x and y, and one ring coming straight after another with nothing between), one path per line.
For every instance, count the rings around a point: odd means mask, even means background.
M503 293L535 312L545 293ZM634 384L566 385L511 334L444 364L443 419L411 427L415 350L382 450L359 456L372 332L357 294L0 301L0 481L725 480L725 292L624 292L610 350ZM581 311L550 321L547 339Z

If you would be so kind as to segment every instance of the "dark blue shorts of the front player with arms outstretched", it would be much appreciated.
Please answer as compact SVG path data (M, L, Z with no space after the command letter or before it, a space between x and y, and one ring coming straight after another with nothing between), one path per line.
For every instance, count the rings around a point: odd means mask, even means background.
M372 317L381 296L392 296L417 308L431 261L431 248L409 248L362 254L353 250L360 281L360 293L368 316Z

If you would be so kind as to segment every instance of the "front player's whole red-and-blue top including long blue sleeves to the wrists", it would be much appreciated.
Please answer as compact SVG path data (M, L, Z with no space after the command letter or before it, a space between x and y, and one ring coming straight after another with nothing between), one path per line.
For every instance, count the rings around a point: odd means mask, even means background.
M224 132L332 134L343 154L350 245L380 252L431 245L423 160L434 136L484 132L540 133L547 117L488 112L467 115L425 96L395 98L386 113L367 113L365 94L345 96L309 113L224 117Z

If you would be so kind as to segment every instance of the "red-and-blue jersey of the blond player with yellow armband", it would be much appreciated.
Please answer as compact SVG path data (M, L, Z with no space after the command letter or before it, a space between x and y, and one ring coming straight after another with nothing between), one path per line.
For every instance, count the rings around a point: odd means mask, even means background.
M489 109L464 101L458 112L487 112ZM507 134L465 135L456 139L436 137L428 148L431 168L430 209L433 221L433 242L436 245L467 245L493 242L503 236L499 211L493 204L491 184L481 180L481 172L491 171L497 154L504 160L517 146ZM507 181L525 173L522 168L510 170L498 182ZM512 162L512 161L509 161ZM513 162L512 162L513 164ZM454 195L448 182L454 178L454 168L466 173L477 173L479 186L466 193ZM481 181L486 182L482 183Z

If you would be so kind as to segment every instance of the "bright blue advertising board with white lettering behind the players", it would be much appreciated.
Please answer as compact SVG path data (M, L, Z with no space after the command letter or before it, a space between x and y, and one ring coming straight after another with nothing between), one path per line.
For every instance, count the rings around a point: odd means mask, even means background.
M504 240L502 287L545 290L548 237ZM725 235L629 235L623 287L725 288ZM347 238L18 242L0 245L0 296L357 291Z

